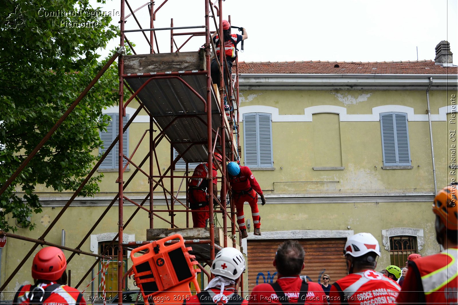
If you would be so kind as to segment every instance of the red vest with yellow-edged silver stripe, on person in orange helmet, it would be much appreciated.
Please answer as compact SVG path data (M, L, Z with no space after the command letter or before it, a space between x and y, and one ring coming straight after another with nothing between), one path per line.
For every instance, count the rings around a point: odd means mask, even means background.
M409 262L402 290L396 300L403 303L457 304L458 249Z

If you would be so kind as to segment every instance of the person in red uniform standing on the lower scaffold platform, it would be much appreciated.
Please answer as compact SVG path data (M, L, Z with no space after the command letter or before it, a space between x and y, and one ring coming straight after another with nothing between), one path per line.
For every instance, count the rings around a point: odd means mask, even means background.
M223 157L218 154L213 154L212 164L212 176L213 182L208 179L208 162L201 163L194 169L192 176L194 178L189 179L189 188L188 188L188 199L189 206L191 208L192 215L192 224L194 228L205 228L207 225L207 219L210 217L208 213L208 189L213 187L213 194L218 193L217 187L217 171L215 167L215 161L219 162L221 165L223 162ZM203 211L203 212L197 212Z

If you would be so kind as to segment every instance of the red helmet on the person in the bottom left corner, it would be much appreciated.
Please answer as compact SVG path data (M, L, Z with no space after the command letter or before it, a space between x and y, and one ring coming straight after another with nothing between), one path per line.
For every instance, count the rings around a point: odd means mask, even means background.
M46 247L33 257L32 278L58 280L67 268L64 252L56 247Z

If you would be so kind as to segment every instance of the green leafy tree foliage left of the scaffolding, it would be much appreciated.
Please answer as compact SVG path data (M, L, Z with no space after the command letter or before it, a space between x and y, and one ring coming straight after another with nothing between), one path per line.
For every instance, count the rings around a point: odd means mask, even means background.
M0 185L103 66L96 50L118 30L100 12L87 0L0 5ZM41 212L37 185L58 192L79 187L97 160L93 151L106 126L102 109L117 102L117 88L114 64L0 196L0 229L16 230L15 220L33 229L27 216ZM93 177L80 195L93 196L100 178Z

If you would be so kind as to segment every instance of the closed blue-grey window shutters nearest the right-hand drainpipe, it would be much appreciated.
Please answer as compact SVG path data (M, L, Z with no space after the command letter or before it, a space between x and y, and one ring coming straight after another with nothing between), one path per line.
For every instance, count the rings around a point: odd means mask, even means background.
M384 166L410 166L409 129L407 114L380 113L382 154Z

